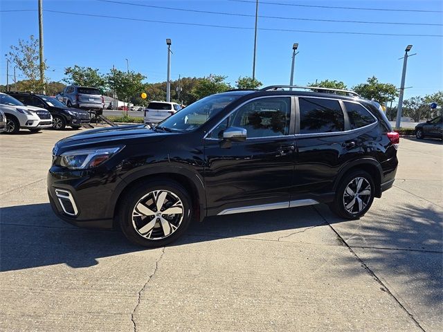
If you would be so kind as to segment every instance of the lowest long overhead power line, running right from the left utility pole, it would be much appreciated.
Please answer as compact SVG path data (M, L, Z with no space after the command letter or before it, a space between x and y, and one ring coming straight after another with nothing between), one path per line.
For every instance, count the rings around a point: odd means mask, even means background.
M108 15L94 15L94 14L84 14L82 12L62 12L60 10L44 10L45 12L53 12L57 14L66 15L78 15L87 17L102 17L105 19L124 19L128 21L142 21L150 23L160 23L168 25L180 25L180 26L206 26L210 28L226 28L226 29L237 29L237 30L253 30L254 28L248 28L244 26L219 26L215 24L198 24L198 23L186 23L186 22L174 22L174 21L157 21L152 19L136 19L134 17L118 17L118 16L108 16ZM327 34L343 34L343 35L374 35L374 36L404 36L404 37L443 37L443 35L422 35L422 34L403 34L403 33L356 33L351 31L316 31L316 30L292 30L292 29L277 29L277 28L259 28L258 30L267 31L283 31L291 33L327 33Z

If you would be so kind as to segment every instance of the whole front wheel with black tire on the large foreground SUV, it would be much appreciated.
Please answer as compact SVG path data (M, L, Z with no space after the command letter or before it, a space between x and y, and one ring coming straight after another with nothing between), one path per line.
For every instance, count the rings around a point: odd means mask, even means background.
M163 206L168 207L165 211L170 210L172 204L174 208L181 209L182 212L178 214L161 214L161 212L156 211L160 201L155 198L154 192L158 194L157 198L165 195L166 198L163 199L165 205L161 205L162 208ZM139 203L143 203L143 206L148 208L149 212L155 213L155 215L141 215L141 212L136 209L136 205L140 206L138 205ZM192 219L192 201L188 192L178 183L168 180L145 181L137 185L123 197L118 208L118 220L123 234L132 243L148 248L166 246L177 240L186 232ZM140 216L134 216L134 214L140 214ZM166 222L168 225L169 235L165 235L163 222ZM145 228L146 231L138 232L142 228ZM147 237L152 237L152 239Z

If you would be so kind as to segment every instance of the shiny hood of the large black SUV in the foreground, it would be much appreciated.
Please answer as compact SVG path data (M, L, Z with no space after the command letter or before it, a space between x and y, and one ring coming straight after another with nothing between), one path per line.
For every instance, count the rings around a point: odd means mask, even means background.
M127 141L132 138L136 139L149 137L153 139L150 140L150 142L158 142L170 134L171 133L153 131L152 129L147 128L145 124L132 124L128 126L93 129L59 140L55 145L55 151L53 151L53 153L57 154L57 151L62 153L66 150L77 148L82 149L85 145L96 143L105 143L105 145L125 145L127 144ZM124 140L124 142L121 142L122 140Z

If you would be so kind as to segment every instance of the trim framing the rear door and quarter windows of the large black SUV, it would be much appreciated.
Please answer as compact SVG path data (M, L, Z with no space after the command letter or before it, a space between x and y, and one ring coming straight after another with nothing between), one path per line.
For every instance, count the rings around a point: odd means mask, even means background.
M315 98L315 99L326 99L326 100L336 100L338 101L338 104L340 104L341 111L343 112L343 118L345 120L345 127L343 131L332 131L332 132L324 132L324 133L300 133L300 102L298 101L298 98ZM368 111L372 118L375 119L375 122L372 122L371 124L367 124L364 127L351 129L351 124L349 122L349 116L347 115L347 110L345 107L345 102L352 102L354 104L359 104L363 109ZM347 133L350 133L352 131L361 130L363 128L368 128L370 126L374 126L374 124L377 124L379 122L379 119L377 119L374 114L371 113L371 111L368 110L361 102L357 102L354 100L342 100L337 98L327 98L327 97L317 97L317 96L311 96L311 95L297 95L296 96L296 137L309 137L309 136L334 136L334 135L344 135Z

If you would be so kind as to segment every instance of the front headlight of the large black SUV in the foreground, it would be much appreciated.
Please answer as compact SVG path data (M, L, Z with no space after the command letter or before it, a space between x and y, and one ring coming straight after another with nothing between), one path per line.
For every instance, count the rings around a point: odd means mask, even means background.
M97 167L98 165L105 163L106 160L122 149L123 146L67 151L60 156L60 166L69 169L88 169Z

